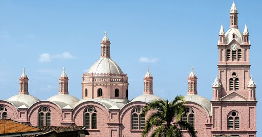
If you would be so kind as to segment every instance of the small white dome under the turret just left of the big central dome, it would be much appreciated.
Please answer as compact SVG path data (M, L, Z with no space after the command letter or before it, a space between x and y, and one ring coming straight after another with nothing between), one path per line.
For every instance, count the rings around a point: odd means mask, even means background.
M71 107L75 107L80 100L71 95L55 95L47 99L47 101L63 102Z

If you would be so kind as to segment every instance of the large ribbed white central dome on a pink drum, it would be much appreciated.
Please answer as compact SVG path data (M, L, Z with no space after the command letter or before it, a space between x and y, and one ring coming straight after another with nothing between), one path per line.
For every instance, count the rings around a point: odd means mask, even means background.
M100 58L90 67L88 73L123 74L120 67L111 58Z

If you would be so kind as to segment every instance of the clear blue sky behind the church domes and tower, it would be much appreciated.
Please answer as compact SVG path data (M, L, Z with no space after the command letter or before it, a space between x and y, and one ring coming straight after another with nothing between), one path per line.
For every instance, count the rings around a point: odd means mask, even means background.
M243 32L248 24L250 74L261 116L261 2L235 4L239 29ZM147 66L155 95L186 95L193 65L198 94L211 100L219 30L221 23L225 31L229 28L231 5L232 1L0 1L1 99L18 94L23 67L31 95L46 100L58 94L63 66L70 95L81 99L82 74L99 59L106 30L111 58L128 75L129 99L143 94ZM262 136L258 121L262 119L257 117L257 136Z

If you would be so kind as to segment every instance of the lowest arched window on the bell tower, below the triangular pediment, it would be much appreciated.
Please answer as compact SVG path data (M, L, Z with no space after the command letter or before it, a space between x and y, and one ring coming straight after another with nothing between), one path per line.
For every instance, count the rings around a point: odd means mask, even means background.
M239 129L239 117L236 111L232 111L228 115L228 129Z

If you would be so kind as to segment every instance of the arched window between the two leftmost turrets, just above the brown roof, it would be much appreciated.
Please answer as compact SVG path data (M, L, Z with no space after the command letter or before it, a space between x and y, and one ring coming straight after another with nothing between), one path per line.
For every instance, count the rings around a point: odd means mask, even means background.
M42 107L38 113L39 126L51 126L51 111L48 107Z

